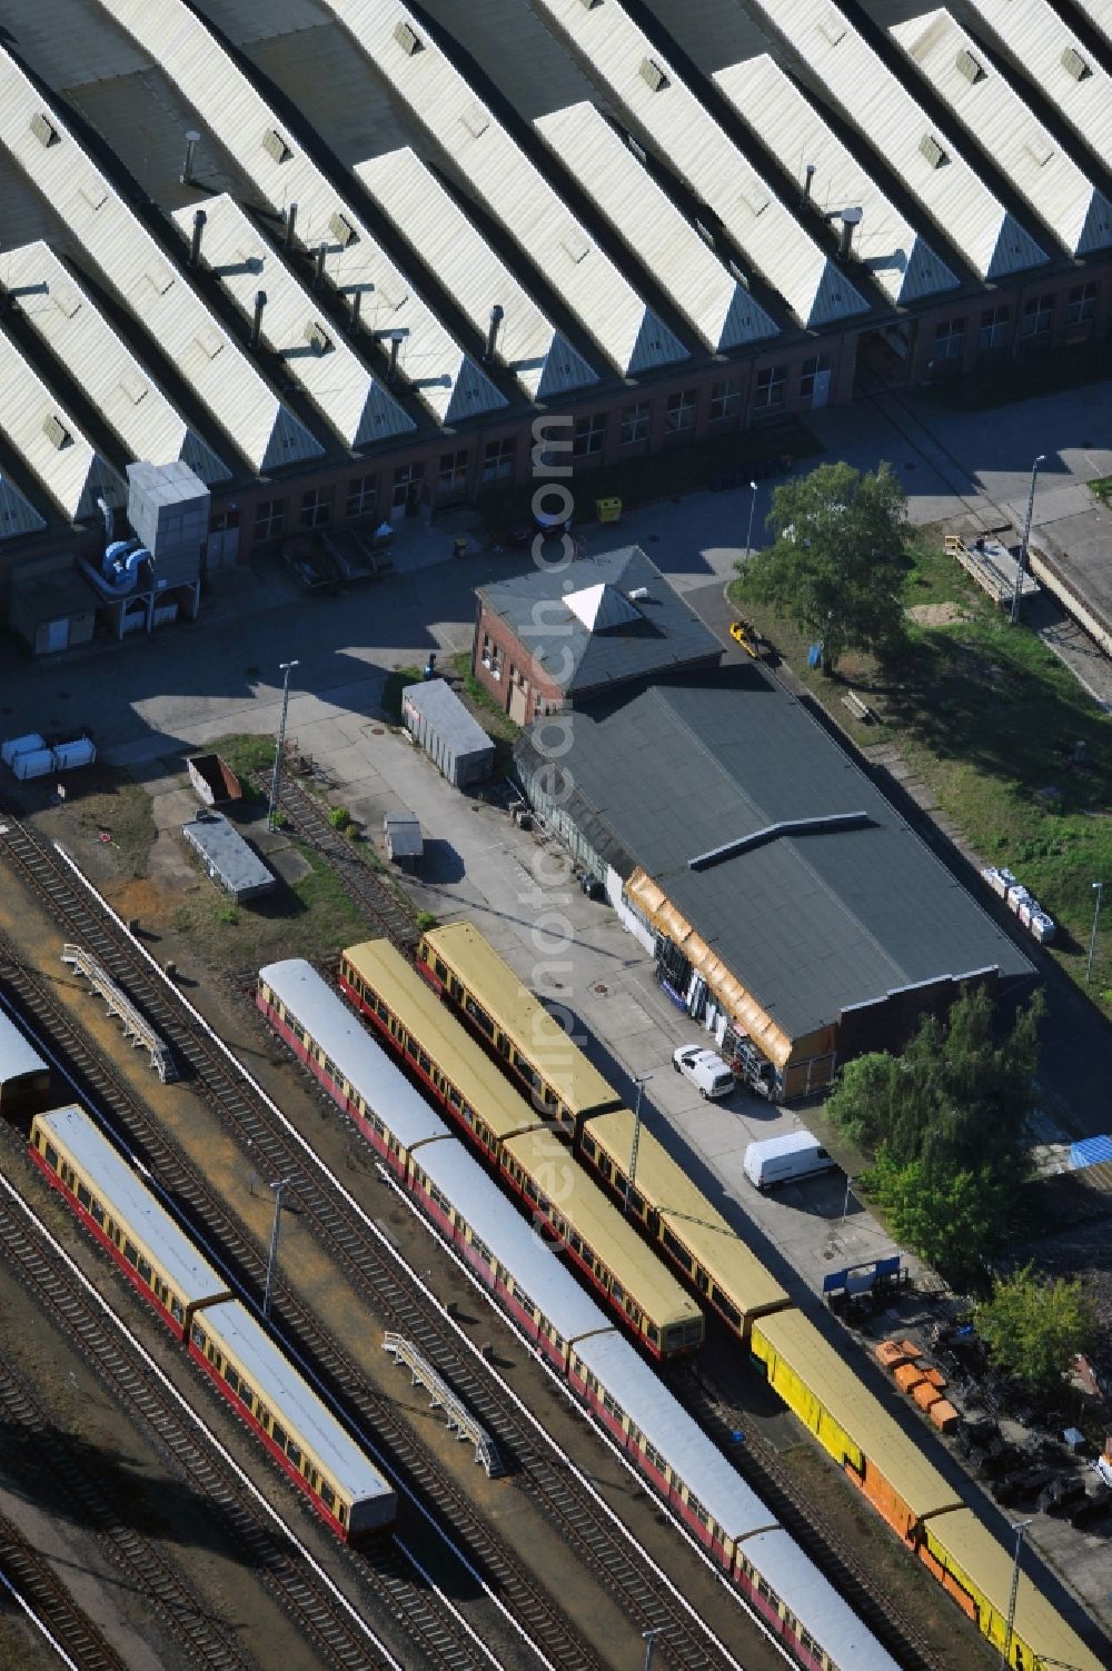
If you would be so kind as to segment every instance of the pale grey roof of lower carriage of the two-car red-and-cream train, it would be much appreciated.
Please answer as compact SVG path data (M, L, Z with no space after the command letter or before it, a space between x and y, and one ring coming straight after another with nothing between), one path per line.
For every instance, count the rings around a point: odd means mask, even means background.
M283 1427L296 1432L316 1452L316 1460L329 1479L358 1501L383 1499L385 1517L393 1519L393 1489L247 1308L231 1300L227 1305L209 1307L197 1322L242 1365L256 1394L274 1410Z

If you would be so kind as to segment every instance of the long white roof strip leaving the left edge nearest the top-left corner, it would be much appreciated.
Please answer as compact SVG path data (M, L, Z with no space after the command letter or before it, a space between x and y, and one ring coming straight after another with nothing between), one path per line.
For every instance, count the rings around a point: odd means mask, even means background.
M0 144L256 470L321 456L319 441L283 406L3 48Z

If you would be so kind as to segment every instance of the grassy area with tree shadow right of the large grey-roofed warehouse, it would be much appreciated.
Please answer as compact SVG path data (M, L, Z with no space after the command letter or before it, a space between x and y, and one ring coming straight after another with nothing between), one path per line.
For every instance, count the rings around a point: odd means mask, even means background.
M1112 936L1085 957L1097 879L1112 877L1112 717L1102 714L1035 632L1010 627L943 550L941 530L916 530L905 602L951 602L968 618L910 623L908 652L881 672L849 655L836 678L806 665L806 640L746 603L798 677L861 745L890 740L988 864L1008 866L1058 924L1050 954L1112 1016ZM860 690L878 724L841 703ZM1077 759L1077 745L1084 757Z

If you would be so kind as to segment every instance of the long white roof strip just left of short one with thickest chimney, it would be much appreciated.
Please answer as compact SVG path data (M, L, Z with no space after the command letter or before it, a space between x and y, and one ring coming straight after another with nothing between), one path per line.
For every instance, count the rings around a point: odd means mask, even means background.
M754 172L617 0L537 0L806 326L870 304Z

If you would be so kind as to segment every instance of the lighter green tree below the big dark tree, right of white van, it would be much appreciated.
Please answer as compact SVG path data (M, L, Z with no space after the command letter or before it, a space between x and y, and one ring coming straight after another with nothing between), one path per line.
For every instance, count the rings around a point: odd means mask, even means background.
M956 1287L978 1278L983 1250L1002 1238L1013 1201L1010 1185L990 1166L900 1165L886 1145L861 1181L896 1240Z

